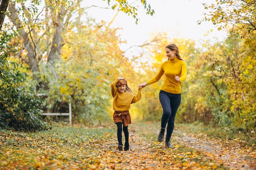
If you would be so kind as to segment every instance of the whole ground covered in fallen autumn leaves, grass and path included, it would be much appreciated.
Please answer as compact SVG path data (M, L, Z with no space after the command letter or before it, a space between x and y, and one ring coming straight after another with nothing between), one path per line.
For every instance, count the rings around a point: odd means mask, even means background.
M173 148L156 140L157 125L128 127L130 150L117 150L116 126L61 125L45 132L2 131L1 170L254 170L255 146L179 132Z

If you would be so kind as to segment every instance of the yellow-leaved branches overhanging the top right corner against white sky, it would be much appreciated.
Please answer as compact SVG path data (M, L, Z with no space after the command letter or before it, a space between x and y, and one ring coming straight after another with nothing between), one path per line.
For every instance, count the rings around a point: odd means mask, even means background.
M218 29L231 27L232 32L244 29L247 33L256 31L255 1L252 0L216 0L216 4L204 3L204 8L211 10L204 13L199 21L211 21Z

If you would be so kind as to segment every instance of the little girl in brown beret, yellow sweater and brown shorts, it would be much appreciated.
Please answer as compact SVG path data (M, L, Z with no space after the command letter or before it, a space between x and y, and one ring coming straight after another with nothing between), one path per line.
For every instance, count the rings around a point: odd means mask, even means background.
M119 77L111 83L111 94L114 97L113 101L113 119L117 125L117 139L118 149L123 150L122 130L124 130L125 144L124 150L129 150L129 132L128 124L131 124L131 117L129 113L130 104L136 103L141 99L141 89L137 95L133 95L132 89L128 87L127 81L124 77ZM123 129L122 129L123 125Z

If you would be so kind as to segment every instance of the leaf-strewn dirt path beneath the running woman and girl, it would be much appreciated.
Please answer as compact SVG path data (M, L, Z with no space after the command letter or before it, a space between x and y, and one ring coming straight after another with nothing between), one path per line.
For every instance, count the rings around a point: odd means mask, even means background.
M141 138L135 125L129 129L130 150L106 152L103 157L103 163L108 164L110 169L115 170L206 170L206 169L222 169L219 167L229 168L230 170L256 170L256 151L252 148L243 148L234 141L222 141L220 139L210 139L205 134L188 134L175 131L172 137L173 146L177 148L166 149L164 142L157 141L159 130L148 129L148 133L152 134L150 140ZM146 133L147 133L146 132ZM116 148L117 144L113 143L110 148ZM200 163L191 161L196 156L186 155L180 146L186 148L194 148L201 153L202 161L208 164L199 165ZM114 153L114 154L113 154ZM115 156L113 156L115 155ZM189 156L189 159L187 159ZM103 158L106 159L103 159ZM111 158L110 158L111 157ZM181 159L178 159L181 158ZM109 161L108 160L112 160ZM217 165L218 168L216 168ZM107 168L108 169L108 168ZM105 170L107 170L105 169Z

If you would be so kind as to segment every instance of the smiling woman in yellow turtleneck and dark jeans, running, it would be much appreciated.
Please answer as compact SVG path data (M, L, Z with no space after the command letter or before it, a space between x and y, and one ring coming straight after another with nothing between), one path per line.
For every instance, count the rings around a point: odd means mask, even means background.
M174 128L174 119L181 101L181 82L186 79L186 62L182 60L179 48L175 44L165 47L165 53L168 58L163 62L157 75L146 83L139 84L139 88L157 82L162 75L165 75L164 84L159 92L159 100L163 108L161 119L161 130L157 137L159 142L164 141L164 131L167 124L165 139L166 148L171 148L170 139Z

